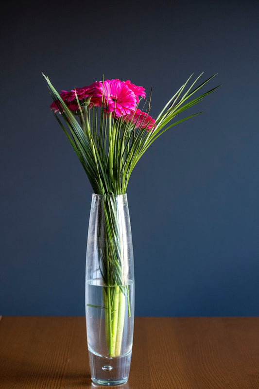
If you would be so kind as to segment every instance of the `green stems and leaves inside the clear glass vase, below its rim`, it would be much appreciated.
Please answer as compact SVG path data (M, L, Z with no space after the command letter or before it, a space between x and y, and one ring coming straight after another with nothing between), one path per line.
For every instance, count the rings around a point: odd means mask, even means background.
M115 196L102 197L98 209L97 247L99 268L106 285L103 287L103 306L110 357L121 354L125 314L131 316L128 268L124 266L128 262L124 247L127 242L126 233L123 231L124 223L121 223L118 217L120 212L121 208L119 206L118 209Z

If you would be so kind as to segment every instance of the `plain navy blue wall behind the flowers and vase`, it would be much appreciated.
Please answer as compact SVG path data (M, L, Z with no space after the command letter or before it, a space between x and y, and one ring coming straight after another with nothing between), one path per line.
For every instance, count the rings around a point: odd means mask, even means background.
M136 315L259 314L258 17L258 1L5 7L0 314L84 315L92 190L41 72L57 90L103 74L152 85L155 117L202 71L223 86L153 143L128 186Z

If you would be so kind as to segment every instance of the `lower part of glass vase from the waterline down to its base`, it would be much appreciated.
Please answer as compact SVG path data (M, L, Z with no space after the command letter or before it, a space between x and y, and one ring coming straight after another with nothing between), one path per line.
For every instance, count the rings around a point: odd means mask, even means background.
M92 381L119 385L129 376L133 326L134 283L104 286L86 283L86 330Z

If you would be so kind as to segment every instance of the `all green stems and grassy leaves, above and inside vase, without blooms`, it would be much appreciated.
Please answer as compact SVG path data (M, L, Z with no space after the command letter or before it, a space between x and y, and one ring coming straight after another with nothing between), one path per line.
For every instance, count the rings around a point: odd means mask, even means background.
M177 90L169 102L161 110L152 128L147 125L134 124L118 118L109 112L105 99L101 106L89 105L89 100L80 102L76 96L78 110L72 112L60 94L47 80L53 101L60 114L54 113L58 123L65 132L71 146L78 156L95 194L105 195L100 213L99 235L105 235L98 245L100 270L104 288L105 329L109 355L118 356L121 350L121 337L125 315L125 301L129 298L127 287L123 283L121 248L118 230L117 210L111 195L126 193L131 173L138 160L150 145L165 131L201 112L173 119L186 109L201 102L205 96L215 91L212 88L193 98L200 88L204 87L216 74L196 86L201 73L194 82L192 76ZM190 84L190 86L189 86ZM151 97L151 95L150 95ZM150 101L149 101L150 106ZM147 113L149 112L149 107ZM108 242L108 243L107 243ZM130 309L128 309L130 315Z

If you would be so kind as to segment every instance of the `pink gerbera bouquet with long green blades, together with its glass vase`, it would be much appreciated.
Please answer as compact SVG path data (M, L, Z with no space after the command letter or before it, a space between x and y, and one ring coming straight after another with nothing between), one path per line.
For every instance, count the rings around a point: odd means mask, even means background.
M58 93L44 76L51 108L94 192L86 252L86 328L91 376L99 385L121 384L129 375L134 318L129 178L163 132L200 112L173 119L218 88L194 97L215 76L196 86L201 75L192 83L190 77L156 119L149 115L151 92L140 109L145 89L129 80L96 81Z

